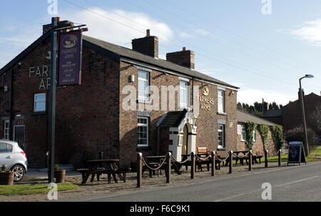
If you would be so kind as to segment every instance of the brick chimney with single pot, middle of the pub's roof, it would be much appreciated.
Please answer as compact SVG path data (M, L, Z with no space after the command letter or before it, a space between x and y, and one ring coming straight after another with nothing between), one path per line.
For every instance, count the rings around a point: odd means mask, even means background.
M134 51L158 58L158 37L151 36L150 29L146 30L146 37L133 39L132 46Z

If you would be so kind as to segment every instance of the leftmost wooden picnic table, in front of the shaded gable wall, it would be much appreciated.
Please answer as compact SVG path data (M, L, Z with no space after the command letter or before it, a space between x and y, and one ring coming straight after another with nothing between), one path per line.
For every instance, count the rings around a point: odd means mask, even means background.
M119 169L116 163L119 162L118 159L108 159L108 160L87 160L87 168L77 169L79 173L82 175L82 182L81 184L86 184L89 176L91 175L91 182L97 176L97 181L99 181L100 175L107 174L108 175L108 183L111 182L111 175L113 176L113 180L118 183L116 175L126 182L126 169ZM106 164L106 166L103 166Z

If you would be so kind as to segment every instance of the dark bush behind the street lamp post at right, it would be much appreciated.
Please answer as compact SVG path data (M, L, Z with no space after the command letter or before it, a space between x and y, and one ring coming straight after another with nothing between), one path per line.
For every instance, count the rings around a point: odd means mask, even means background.
M305 134L302 126L287 130L284 133L284 136L287 143L293 141L305 143ZM311 128L307 128L307 143L309 145L309 150L312 150L312 148L315 148L315 146L318 144L317 134Z

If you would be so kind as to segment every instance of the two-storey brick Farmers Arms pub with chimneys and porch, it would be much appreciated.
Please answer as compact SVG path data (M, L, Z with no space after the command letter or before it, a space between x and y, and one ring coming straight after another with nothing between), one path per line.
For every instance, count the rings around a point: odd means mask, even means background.
M34 168L46 167L49 145L50 28L0 70L0 139L16 140ZM237 149L238 87L195 71L186 48L158 58L149 30L132 47L83 35L81 85L56 88L56 163L76 167L103 152L124 167L138 152L180 160L197 147Z

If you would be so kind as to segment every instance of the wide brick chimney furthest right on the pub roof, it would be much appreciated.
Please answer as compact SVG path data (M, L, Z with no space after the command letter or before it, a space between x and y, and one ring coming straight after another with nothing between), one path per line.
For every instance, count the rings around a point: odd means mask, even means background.
M180 66L195 69L195 53L194 51L186 50L183 47L183 51L167 53L166 61L177 63Z

